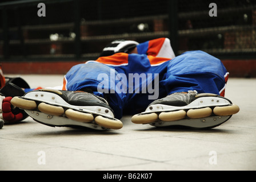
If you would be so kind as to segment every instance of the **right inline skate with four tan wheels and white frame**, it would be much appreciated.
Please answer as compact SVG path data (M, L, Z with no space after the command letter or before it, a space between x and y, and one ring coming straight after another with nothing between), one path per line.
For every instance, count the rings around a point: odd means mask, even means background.
M238 113L239 107L225 97L211 93L189 91L174 93L153 101L141 114L131 118L133 123L152 126L186 126L210 129L226 122Z

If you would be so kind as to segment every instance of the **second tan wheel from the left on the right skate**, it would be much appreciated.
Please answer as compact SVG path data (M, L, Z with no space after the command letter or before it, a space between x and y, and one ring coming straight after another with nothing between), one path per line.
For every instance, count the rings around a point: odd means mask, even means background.
M162 121L177 121L186 117L185 110L162 112L159 114L159 119Z

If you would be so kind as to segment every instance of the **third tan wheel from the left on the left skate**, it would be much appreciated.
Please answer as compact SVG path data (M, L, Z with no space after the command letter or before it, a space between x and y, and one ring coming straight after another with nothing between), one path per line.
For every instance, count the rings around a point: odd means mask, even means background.
M73 109L67 109L65 111L66 117L79 122L91 122L93 121L93 114L82 113Z

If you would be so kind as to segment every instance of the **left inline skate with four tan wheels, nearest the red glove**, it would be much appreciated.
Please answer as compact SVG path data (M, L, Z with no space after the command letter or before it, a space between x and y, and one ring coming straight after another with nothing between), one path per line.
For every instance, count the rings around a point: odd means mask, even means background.
M48 126L121 129L104 98L83 91L39 89L14 97L11 104L26 111L35 121Z

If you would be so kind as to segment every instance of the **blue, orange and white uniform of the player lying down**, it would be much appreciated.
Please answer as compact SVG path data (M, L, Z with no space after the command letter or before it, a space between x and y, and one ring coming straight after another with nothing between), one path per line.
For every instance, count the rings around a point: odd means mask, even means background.
M107 98L116 118L123 111L140 113L157 98L175 92L197 90L224 96L229 74L216 57L203 51L175 57L167 38L138 44L137 51L75 65L65 75L63 90L90 88Z

